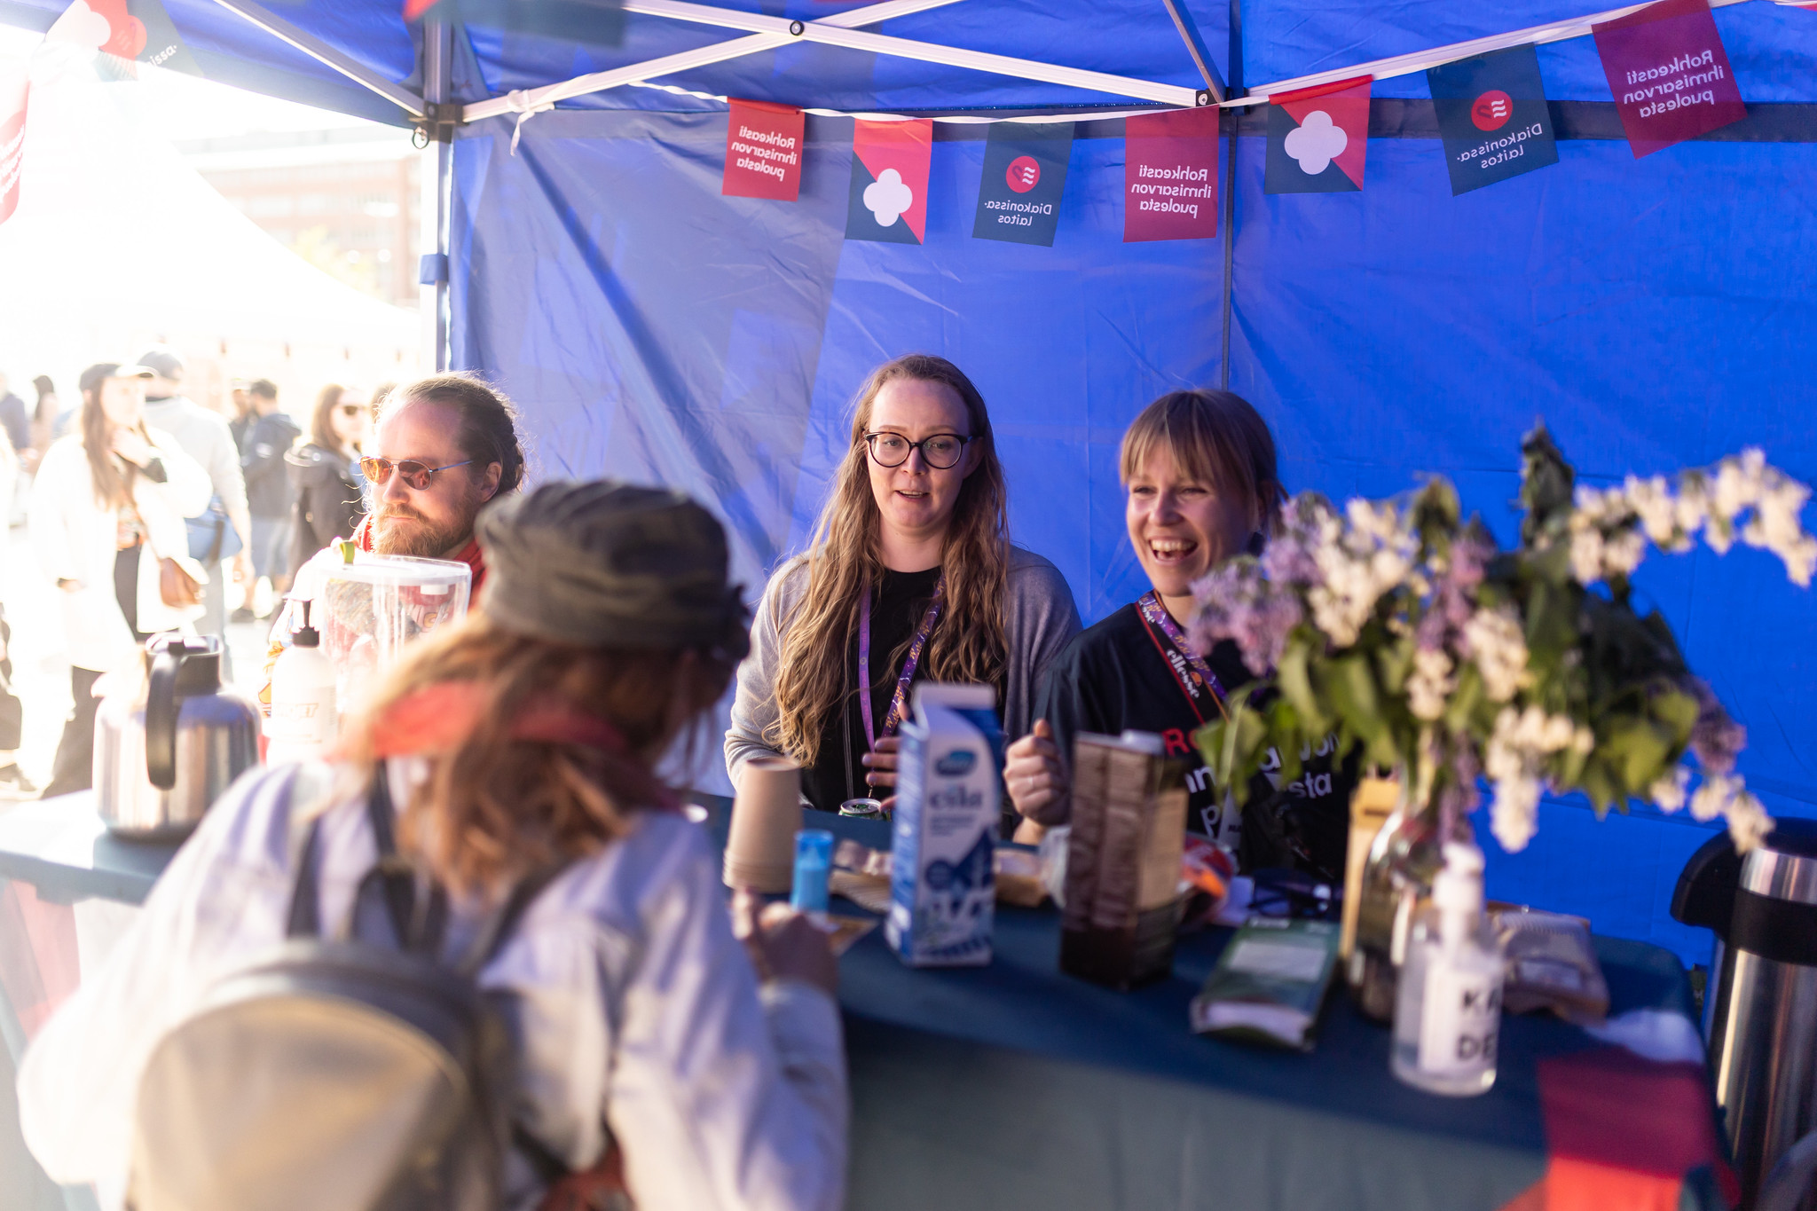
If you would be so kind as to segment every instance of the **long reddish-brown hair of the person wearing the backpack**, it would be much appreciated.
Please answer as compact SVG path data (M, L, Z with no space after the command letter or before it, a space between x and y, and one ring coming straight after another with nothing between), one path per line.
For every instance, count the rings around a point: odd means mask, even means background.
M374 721L420 690L478 686L474 730L431 757L427 781L403 808L400 841L451 890L496 891L621 837L632 813L661 795L654 768L678 726L698 726L730 675L729 665L700 652L581 648L469 614L422 639L387 675L363 724L347 730L347 755L358 784L371 786L380 759ZM625 750L514 737L523 706L545 695L609 723Z

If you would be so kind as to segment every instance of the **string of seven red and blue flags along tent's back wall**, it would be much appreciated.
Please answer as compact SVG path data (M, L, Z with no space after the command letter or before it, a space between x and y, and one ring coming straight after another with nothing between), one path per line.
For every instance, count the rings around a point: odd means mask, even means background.
M1268 105L1263 189L1270 194L1359 192L1368 158L1370 91L1375 80L1423 71L1432 93L1452 194L1495 185L1559 162L1557 136L1539 71L1537 45L1592 34L1635 158L1697 138L1746 116L1712 7L1737 0L1655 0L1515 34L1475 38L1425 54L1323 73L1297 87L1270 85L1217 105L1123 116L1123 240L1208 240L1217 236L1221 156L1217 114L1236 105ZM1448 54L1446 54L1448 53ZM1285 82L1296 84L1296 82ZM665 87L665 85L650 85ZM685 91L685 89L672 89ZM732 111L727 196L799 196L801 111L729 100ZM749 114L794 114L794 158L778 176L774 151L760 151L772 183L750 183ZM841 114L843 116L843 114ZM863 114L852 134L852 191L847 240L923 243L927 178L934 122L988 122L976 240L1052 247L1059 229L1072 116L1056 118L898 118ZM745 142L734 154L732 134ZM767 189L767 192L765 192Z

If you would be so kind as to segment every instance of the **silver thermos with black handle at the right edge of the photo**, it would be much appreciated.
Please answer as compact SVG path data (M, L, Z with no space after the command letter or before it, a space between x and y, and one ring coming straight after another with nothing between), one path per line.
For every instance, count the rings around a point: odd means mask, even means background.
M1704 1039L1743 1206L1817 1131L1817 821L1779 819L1746 857L1712 837L1672 915L1715 931ZM1804 1149L1801 1149L1802 1153ZM1817 1211L1817 1196L1795 1206Z

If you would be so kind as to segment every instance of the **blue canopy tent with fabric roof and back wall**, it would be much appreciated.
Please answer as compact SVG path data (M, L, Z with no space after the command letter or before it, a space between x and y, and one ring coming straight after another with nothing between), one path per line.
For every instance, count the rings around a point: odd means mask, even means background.
M0 20L62 7L0 0ZM1141 585L1116 448L1174 387L1256 401L1290 490L1443 472L1503 537L1541 416L1590 481L1744 445L1817 478L1817 13L1723 4L1748 118L1635 160L1584 7L630 0L614 44L474 5L463 27L411 27L398 0L165 0L205 74L447 138L438 347L521 401L541 474L694 492L754 592L801 546L869 367L939 352L990 401L1016 539L1087 621ZM1548 22L1523 40L1541 42L1559 163L1452 198L1421 69ZM1221 236L1121 241L1125 114L1359 71L1377 76L1361 192L1265 194L1266 105L1234 105ZM727 96L809 109L799 202L720 196ZM843 240L854 113L941 118L923 245ZM970 236L985 120L1005 116L1077 122L1050 249ZM1748 724L1768 810L1817 813L1812 599L1746 550L1655 557L1641 586ZM1701 959L1666 902L1706 835L1548 802L1524 853L1490 855L1490 890Z

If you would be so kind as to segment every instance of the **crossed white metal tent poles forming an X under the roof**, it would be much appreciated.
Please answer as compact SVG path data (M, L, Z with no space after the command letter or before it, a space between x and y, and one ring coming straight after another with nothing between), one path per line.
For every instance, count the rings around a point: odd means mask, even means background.
M667 16L672 20L721 25L729 29L747 29L752 36L734 38L732 42L718 42L714 45L700 47L698 51L667 54L643 64L614 67L612 71L600 71L567 80L563 84L551 84L541 89L529 89L518 100L494 96L491 100L474 102L462 111L462 116L467 122L478 122L480 118L492 118L507 113L543 109L571 96L601 93L625 84L641 84L645 80L689 71L705 64L720 64L730 58L770 51L779 45L789 45L790 42L841 45L852 51L870 51L874 54L912 58L948 67L968 67L972 71L988 71L1019 80L1063 84L1077 89L1090 89L1094 93L1110 93L1114 96L1139 96L1165 105L1192 107L1199 103L1197 89L1174 84L1132 80L1128 76L1081 71L1077 67L1057 67L1054 64L1038 64L1027 58L987 54L983 51L963 51L958 47L943 47L930 42L892 38L856 29L856 25L874 25L894 16L905 16L908 13L919 13L952 2L954 0L892 0L889 4L872 4L863 9L852 9L849 13L838 13L812 22L790 22L783 16L716 9L705 4L687 4L685 0L625 0L625 9L629 13L645 13L650 16Z

